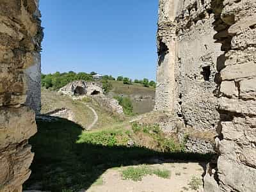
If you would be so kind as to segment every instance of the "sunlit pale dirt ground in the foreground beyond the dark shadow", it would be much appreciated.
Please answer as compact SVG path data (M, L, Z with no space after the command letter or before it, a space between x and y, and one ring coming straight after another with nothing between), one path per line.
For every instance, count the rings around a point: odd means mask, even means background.
M164 163L154 164L157 168L170 170L170 179L163 179L156 175L143 177L141 181L122 179L122 169L109 169L102 175L103 183L93 184L87 192L201 192L200 189L189 188L189 182L193 177L203 178L204 166L201 163ZM81 191L85 192L85 191Z

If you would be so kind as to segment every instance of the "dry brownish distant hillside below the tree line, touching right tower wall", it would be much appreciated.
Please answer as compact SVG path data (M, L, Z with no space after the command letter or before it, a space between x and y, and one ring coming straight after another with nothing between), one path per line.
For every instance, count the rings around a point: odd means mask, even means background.
M124 95L132 99L134 113L148 113L154 109L156 88L145 87L141 84L124 84L122 81L111 81L113 89L110 95Z

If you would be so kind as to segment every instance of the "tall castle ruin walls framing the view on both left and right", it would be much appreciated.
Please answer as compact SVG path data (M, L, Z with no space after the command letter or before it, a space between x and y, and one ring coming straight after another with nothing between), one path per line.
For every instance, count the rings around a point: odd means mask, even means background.
M218 132L205 192L253 192L256 1L159 1L156 109ZM41 41L38 0L1 0L0 191L21 192L30 175Z

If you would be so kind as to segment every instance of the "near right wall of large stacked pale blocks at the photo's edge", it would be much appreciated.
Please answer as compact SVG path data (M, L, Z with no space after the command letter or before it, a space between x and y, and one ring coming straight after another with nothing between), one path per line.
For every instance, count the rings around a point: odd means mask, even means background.
M219 157L205 176L205 191L253 192L256 190L256 1L213 3L218 32L214 38L222 44L225 63L218 81Z

